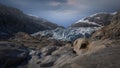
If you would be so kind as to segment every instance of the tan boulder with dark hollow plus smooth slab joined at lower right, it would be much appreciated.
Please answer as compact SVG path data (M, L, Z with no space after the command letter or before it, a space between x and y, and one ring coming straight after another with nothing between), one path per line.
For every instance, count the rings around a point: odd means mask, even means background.
M119 42L120 40L77 39L73 46L78 56L56 68L119 68Z

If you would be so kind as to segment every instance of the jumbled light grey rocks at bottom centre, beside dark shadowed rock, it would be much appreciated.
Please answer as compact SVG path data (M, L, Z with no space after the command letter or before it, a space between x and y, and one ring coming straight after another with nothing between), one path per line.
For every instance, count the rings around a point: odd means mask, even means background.
M75 57L72 47L68 44L65 46L46 46L35 51L32 59L27 65L28 68L53 68L57 65L63 66Z

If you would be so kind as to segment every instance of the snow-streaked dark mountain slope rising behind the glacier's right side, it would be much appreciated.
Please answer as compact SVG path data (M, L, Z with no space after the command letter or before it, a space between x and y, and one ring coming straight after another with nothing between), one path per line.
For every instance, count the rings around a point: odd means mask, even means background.
M115 13L97 13L83 18L70 27L101 27L110 24L111 18Z

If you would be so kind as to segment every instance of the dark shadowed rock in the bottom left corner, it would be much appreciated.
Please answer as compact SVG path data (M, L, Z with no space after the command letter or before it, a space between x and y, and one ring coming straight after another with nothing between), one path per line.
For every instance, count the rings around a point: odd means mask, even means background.
M27 62L29 52L22 44L0 41L0 68L15 68Z

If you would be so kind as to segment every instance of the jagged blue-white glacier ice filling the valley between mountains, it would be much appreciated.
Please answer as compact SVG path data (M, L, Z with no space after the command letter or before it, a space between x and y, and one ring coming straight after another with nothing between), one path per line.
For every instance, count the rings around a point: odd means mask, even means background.
M98 27L74 27L74 28L56 28L54 30L40 31L32 36L47 36L61 41L74 41L77 38L89 37L92 32L99 29Z

